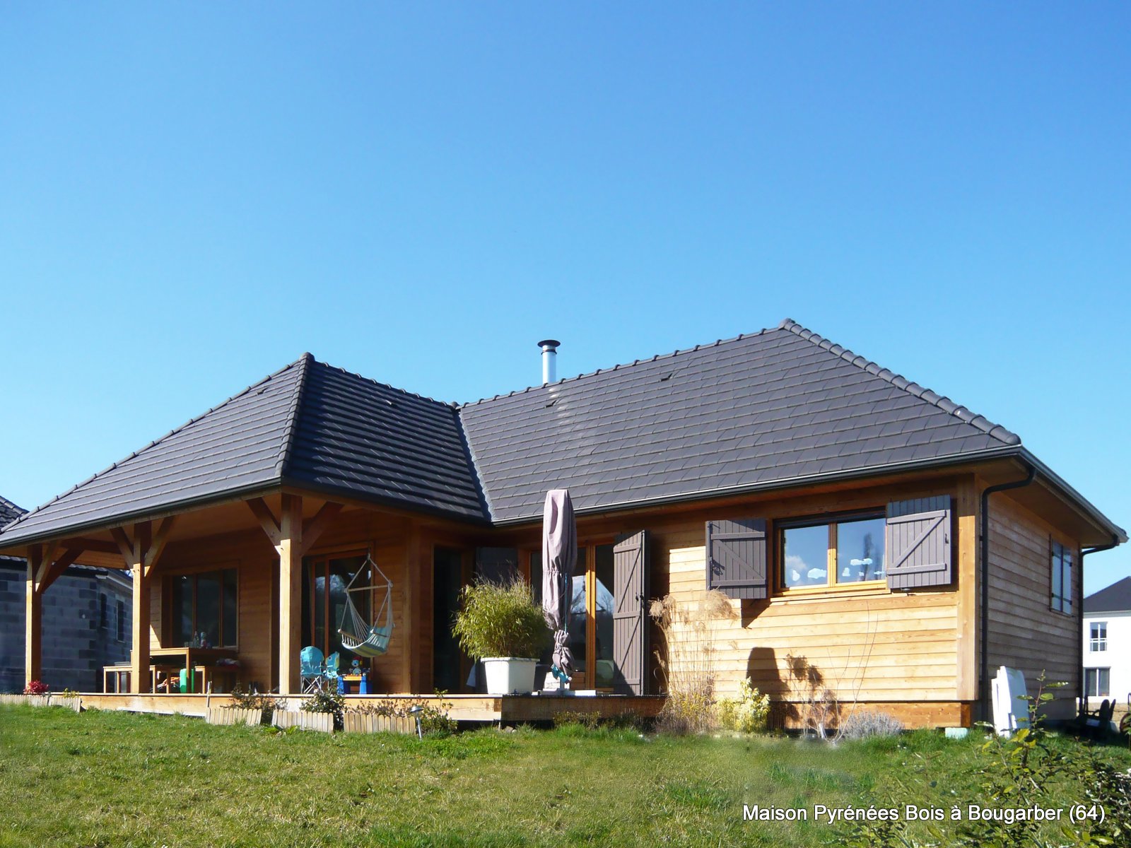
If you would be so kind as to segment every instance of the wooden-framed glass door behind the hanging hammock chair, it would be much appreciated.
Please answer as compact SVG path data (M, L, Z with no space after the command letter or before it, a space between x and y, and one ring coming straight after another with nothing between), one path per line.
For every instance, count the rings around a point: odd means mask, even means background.
M347 668L354 655L342 647L342 616L346 613L346 587L365 564L365 553L310 557L302 564L302 643L338 655L338 666ZM370 592L355 592L353 603L366 621L372 607ZM361 660L369 668L369 659Z

